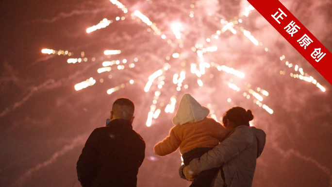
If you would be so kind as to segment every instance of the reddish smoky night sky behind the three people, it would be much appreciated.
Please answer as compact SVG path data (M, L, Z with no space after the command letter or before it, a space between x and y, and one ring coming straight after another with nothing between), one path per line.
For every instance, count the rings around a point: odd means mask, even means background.
M119 97L135 103L133 129L146 141L137 187L188 187L190 182L178 175L179 151L163 157L153 153L153 146L173 127L171 119L184 93L209 107L209 117L218 121L233 106L252 110L252 124L266 132L253 187L332 187L332 85L257 11L241 17L249 6L246 0L120 2L128 13L109 0L1 2L0 187L80 187L76 162L84 143L95 128L105 125ZM332 51L332 0L281 2ZM161 35L134 16L135 10L156 23ZM104 18L112 23L86 32ZM233 25L236 34L231 29L222 31L224 21L238 19L242 22ZM176 38L174 25L181 38ZM250 41L244 30L259 44ZM205 74L191 73L191 64L199 69L202 60L197 51L211 46L217 51L207 51L202 57L211 67L205 68ZM42 49L73 55L44 54ZM121 53L104 55L105 50ZM82 62L69 64L69 58ZM97 72L104 61L112 60L119 64L111 71ZM241 71L245 77L219 71L219 65ZM303 68L303 76L312 76L326 91L291 77L291 73L300 74L296 65ZM159 69L163 74L145 91L149 76ZM181 71L186 73L179 86L173 77ZM90 77L96 80L94 85L75 90L76 84ZM121 89L107 94L116 86ZM263 101L253 97L250 89ZM155 98L156 91L160 91L159 98ZM171 97L177 101L175 111L166 113ZM161 113L147 126L153 106Z

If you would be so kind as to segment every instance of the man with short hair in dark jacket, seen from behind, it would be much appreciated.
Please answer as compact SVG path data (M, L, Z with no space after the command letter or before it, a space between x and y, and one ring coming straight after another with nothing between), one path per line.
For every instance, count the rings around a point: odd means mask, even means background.
M82 187L136 187L145 142L133 130L133 112L132 101L117 99L111 121L95 129L86 140L76 167Z

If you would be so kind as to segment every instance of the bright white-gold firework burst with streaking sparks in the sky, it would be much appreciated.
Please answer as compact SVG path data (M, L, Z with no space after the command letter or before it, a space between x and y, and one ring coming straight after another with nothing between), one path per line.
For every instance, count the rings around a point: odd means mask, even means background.
M251 100L254 104L261 107L262 109L266 110L269 114L273 114L273 109L271 109L263 100L267 96L269 96L269 92L265 89L262 89L261 86L252 86L250 83L246 81L241 81L241 79L244 79L246 76L245 72L242 72L240 70L237 70L235 68L226 66L226 64L218 64L214 62L213 57L214 54L218 52L218 50L221 48L225 48L225 45L220 45L220 40L222 40L222 34L243 34L246 38L249 39L249 41L252 42L253 47L257 46L257 48L261 48L262 51L268 52L267 55L271 55L270 49L267 47L263 47L263 43L259 42L248 30L244 28L241 24L246 20L249 19L249 15L254 11L254 8L247 4L242 5L240 8L243 11L240 11L239 15L236 15L232 17L232 19L227 20L224 16L221 16L216 13L216 11L208 11L207 16L209 17L206 20L202 20L202 16L199 14L196 14L195 12L204 12L209 7L213 7L214 3L216 2L210 2L211 4L208 5L202 5L201 1L192 1L191 3L188 3L187 6L176 7L174 4L163 4L162 6L167 6L167 8L176 8L179 9L180 12L187 15L187 18L190 20L190 25L188 23L183 23L179 20L171 20L170 26L166 28L166 31L163 32L161 29L157 27L157 24L153 22L153 20L150 20L149 17L141 13L139 10L129 10L126 8L125 5L123 5L118 0L111 0L113 4L119 8L124 16L116 17L115 21L119 20L127 20L129 18L128 14L130 14L131 19L135 22L135 24L146 24L147 32L153 33L153 37L161 37L164 41L163 48L165 48L165 45L168 45L168 52L165 56L158 56L158 58L162 59L163 61L163 67L156 70L154 73L152 73L148 81L146 82L146 85L144 88L145 92L152 91L154 92L154 97L152 100L152 103L150 105L150 111L148 112L148 119L146 122L147 126L151 126L152 120L157 119L159 117L159 114L161 111L165 111L166 113L173 113L175 110L175 105L177 103L178 96L181 96L183 93L186 92L186 89L189 87L204 87L204 79L207 78L214 79L215 77L215 71L212 69L216 69L217 72L224 72L231 74L232 76L237 77L236 79L240 79L240 81L236 81L237 83L234 83L234 79L231 77L229 80L223 80L223 84L226 85L228 88L234 90L235 92L241 92L242 94L234 94L233 97L236 97L238 95L243 95L245 99L248 101ZM149 1L149 4L152 4L152 1ZM186 8L183 8L186 7ZM203 9L203 11L202 11ZM128 14L127 14L128 13ZM86 33L91 32L97 32L97 30L106 28L111 23L113 23L114 20L109 20L107 18L103 18L100 23L97 25L94 25L92 27L89 27L86 29ZM130 23L133 24L133 23ZM203 25L202 25L203 24ZM205 24L205 25L204 25ZM216 32L204 32L204 34L199 33L195 31L195 28L199 27L208 27L208 25L212 25L212 27L216 28ZM190 35L209 35L208 37L197 37L195 39L192 39ZM225 36L226 37L226 36ZM171 52L173 51L173 52ZM55 50L49 50L49 49L43 49L42 53L47 54L58 54L58 55L73 55L73 52L68 51L55 51ZM104 51L104 55L107 56L107 58L113 58L113 55L120 54L120 50L106 50ZM140 54L140 56L142 56ZM69 58L67 60L68 63L81 63L81 62L87 62L87 58L84 57L84 52L81 52L82 58ZM144 59L144 57L142 57ZM104 59L103 57L101 59ZM282 55L280 57L281 61L284 61L285 56ZM96 58L91 58L91 61L95 61ZM111 59L110 59L111 60ZM104 61L102 62L102 68L98 68L98 73L105 73L113 70L122 70L124 68L134 68L139 60L137 57L135 57L133 60L131 60L131 63L128 63L129 60L122 59L122 60L111 60L111 61ZM189 63L190 62L190 63ZM294 65L292 63L289 63L288 61L285 62L286 66L288 68L292 68ZM169 69L172 69L169 71ZM295 65L296 72L299 71L299 73L290 73L291 77L298 78L299 80L304 80L307 82L311 82L314 85L316 85L319 89L322 91L325 91L325 88L320 85L312 76L309 76L307 73L304 73L302 68L299 68L298 65ZM280 74L284 75L285 71L280 70ZM112 78L113 76L111 74L108 75L108 78ZM168 81L171 79L172 81ZM193 81L197 83L196 85L193 85ZM100 79L100 83L103 82L103 79ZM135 82L134 79L131 79L129 82L122 83L121 85L117 85L115 87L112 87L107 90L107 94L112 94L120 89L124 89L127 85L133 85ZM96 80L94 80L92 77L90 79L87 79L86 81L83 81L82 83L79 83L75 85L76 90L81 90L83 88L86 88L88 86L95 85ZM170 86L166 84L173 83L176 85ZM153 84L156 84L156 87L151 88ZM175 89L172 91L173 94L169 99L169 103L165 104L164 102L159 102L160 97L167 97L167 94L163 94L165 91L165 88L167 89L169 87L174 87ZM168 91L168 90L167 90ZM181 94L178 94L181 93ZM227 102L232 102L232 98L228 98ZM209 105L208 105L209 107ZM210 104L211 107L211 104ZM211 110L210 117L216 120L221 120L221 117L219 118L216 116L216 114L213 112L214 110Z

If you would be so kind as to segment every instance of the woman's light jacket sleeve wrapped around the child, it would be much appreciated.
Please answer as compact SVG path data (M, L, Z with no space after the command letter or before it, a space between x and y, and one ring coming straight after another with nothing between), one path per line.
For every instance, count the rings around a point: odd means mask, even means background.
M203 154L200 158L192 160L189 164L193 175L198 175L203 170L219 168L234 156L245 150L253 143L253 132L248 126L235 128L231 136L217 145L213 150Z

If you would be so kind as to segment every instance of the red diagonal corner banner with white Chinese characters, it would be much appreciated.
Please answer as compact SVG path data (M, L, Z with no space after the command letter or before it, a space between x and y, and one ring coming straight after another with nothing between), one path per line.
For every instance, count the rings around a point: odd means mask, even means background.
M331 52L279 0L248 2L332 85Z

